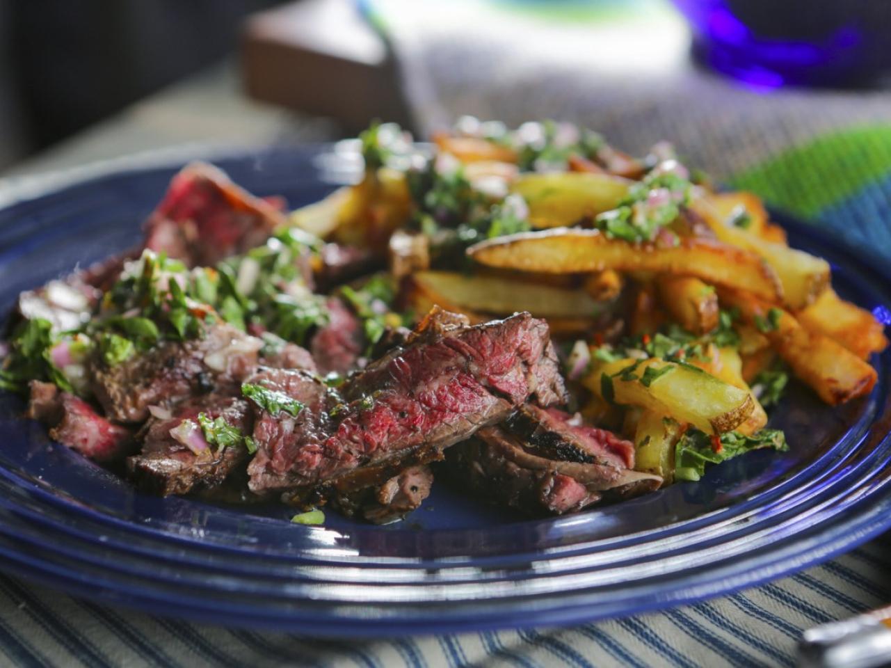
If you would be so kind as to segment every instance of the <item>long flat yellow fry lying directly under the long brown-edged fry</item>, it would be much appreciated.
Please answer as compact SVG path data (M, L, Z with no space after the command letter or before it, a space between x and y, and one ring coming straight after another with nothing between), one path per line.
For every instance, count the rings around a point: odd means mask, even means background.
M481 313L510 315L529 311L537 318L593 318L604 310L583 290L564 290L505 280L497 276L471 276L453 271L419 271L412 282L424 293Z

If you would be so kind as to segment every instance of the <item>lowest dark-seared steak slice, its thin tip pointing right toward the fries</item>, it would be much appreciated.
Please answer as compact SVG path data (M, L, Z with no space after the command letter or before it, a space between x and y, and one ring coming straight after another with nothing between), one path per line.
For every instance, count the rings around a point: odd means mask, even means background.
M530 515L581 510L600 501L658 488L656 475L596 463L567 462L530 454L500 426L486 427L446 452L454 477L480 496Z

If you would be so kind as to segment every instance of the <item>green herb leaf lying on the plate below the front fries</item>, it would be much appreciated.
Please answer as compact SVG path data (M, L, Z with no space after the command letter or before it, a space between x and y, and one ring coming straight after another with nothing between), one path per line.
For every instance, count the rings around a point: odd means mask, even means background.
M789 449L785 435L778 429L762 429L751 436L728 432L712 437L699 429L688 429L674 447L674 477L677 480L697 481L706 473L706 466L760 448L781 452Z

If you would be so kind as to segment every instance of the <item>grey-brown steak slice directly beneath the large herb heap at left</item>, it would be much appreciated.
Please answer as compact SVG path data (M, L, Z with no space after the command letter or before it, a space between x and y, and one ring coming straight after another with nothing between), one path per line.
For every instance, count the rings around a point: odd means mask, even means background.
M233 326L209 326L202 338L163 343L114 367L95 359L93 391L110 419L143 422L149 406L214 391L237 394L255 372L262 345Z

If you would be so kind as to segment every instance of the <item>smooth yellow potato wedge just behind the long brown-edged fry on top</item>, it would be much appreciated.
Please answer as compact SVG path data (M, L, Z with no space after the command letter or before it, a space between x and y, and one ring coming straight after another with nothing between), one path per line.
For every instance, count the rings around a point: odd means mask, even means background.
M568 227L615 209L632 183L590 172L528 173L517 177L511 192L526 200L532 227Z

